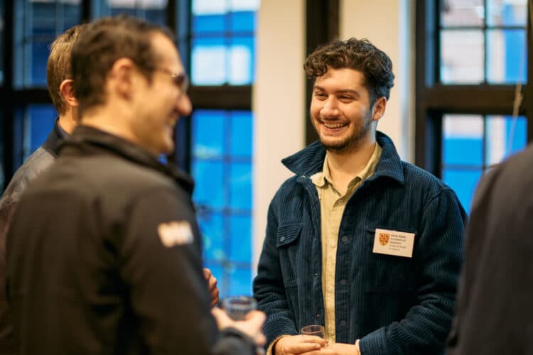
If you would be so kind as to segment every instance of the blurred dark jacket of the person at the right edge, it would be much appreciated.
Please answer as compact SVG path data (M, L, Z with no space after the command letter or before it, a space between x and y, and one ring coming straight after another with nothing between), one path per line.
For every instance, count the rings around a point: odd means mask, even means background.
M448 355L533 354L533 146L475 192Z

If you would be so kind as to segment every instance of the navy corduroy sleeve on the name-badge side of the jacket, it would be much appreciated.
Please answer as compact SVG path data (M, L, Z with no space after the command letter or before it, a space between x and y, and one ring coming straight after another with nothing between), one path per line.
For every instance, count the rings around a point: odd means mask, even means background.
M466 214L449 188L429 200L422 213L416 305L399 322L362 337L363 355L443 353L456 301Z

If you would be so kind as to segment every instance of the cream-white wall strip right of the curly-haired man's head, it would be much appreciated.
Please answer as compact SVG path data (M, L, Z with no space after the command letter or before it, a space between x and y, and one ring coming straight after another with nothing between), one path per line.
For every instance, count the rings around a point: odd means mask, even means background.
M414 161L414 0L341 0L340 39L368 38L392 60L394 87L377 129Z

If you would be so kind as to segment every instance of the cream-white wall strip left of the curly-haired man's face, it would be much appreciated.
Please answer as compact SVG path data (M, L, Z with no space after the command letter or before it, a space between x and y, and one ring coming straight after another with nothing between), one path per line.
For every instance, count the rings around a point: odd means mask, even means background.
M263 0L259 8L254 84L253 264L261 253L271 198L289 170L280 160L303 148L304 0Z

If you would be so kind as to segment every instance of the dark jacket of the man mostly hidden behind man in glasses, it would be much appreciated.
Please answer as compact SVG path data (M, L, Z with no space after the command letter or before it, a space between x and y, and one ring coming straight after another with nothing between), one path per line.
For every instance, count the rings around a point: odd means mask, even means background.
M45 143L37 148L33 154L16 170L0 199L0 355L16 354L16 347L12 336L11 315L6 302L6 234L11 218L15 212L18 200L28 184L53 163L58 153L58 143L64 138L64 133L58 125L58 119Z

